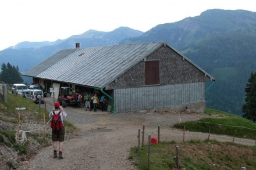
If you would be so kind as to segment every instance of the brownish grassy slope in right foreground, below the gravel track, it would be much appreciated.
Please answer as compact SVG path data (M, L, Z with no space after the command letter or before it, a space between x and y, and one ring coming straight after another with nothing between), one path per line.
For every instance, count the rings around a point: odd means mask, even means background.
M151 169L175 169L179 148L179 168L182 169L256 169L256 148L216 140L190 140L189 142L161 142L151 145ZM140 154L137 147L129 157L139 169L148 169L148 147Z

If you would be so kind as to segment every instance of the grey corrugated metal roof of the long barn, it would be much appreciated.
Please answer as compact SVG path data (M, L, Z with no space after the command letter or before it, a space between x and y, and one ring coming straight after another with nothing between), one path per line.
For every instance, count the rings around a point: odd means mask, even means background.
M163 44L151 42L61 50L23 75L104 88Z

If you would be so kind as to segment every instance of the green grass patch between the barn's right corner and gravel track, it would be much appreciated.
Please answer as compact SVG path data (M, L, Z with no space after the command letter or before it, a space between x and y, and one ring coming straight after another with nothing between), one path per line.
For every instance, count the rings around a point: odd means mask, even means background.
M238 138L256 139L256 124L237 115L206 109L208 118L174 125L175 128L194 132L209 132L219 135L236 135Z

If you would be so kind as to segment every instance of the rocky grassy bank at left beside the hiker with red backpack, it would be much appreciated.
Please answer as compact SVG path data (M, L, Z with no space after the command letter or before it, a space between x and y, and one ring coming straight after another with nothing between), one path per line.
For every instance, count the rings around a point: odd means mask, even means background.
M25 109L19 110L19 108ZM44 139L44 134L38 131L27 132L26 137L28 140L24 144L16 143L15 140L15 129L19 119L20 125L36 124L40 127L44 124L42 121L44 114L45 121L48 121L48 111L38 107L38 104L35 104L30 100L13 95L12 93L8 93L8 102L5 103L0 100L0 144L2 147L8 148L9 156L13 157L13 161L10 161L8 160L8 157L2 157L2 155L5 155L6 153L0 153L0 167L3 169L17 168L15 160L17 160L17 162L29 160L37 150L51 144L51 133L46 133L46 138ZM76 127L66 121L65 127L66 134L72 133L74 129L76 129Z

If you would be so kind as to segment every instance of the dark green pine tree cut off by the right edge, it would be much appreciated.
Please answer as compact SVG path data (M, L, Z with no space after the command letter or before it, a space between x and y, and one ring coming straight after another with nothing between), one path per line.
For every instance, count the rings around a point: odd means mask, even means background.
M244 91L246 92L246 103L243 105L243 117L248 120L256 121L256 73L251 73L248 84Z

